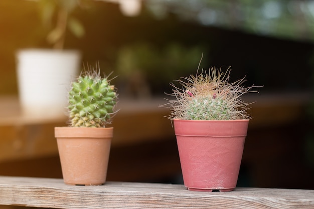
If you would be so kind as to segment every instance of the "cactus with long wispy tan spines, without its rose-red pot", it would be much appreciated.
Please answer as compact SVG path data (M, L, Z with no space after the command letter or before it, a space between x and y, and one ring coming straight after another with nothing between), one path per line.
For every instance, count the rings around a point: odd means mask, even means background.
M178 80L181 88L174 87L171 96L164 107L170 107L170 119L184 120L240 120L249 119L247 105L241 100L244 93L252 92L252 87L241 86L244 78L229 83L230 68L226 73L210 68L197 76L190 75Z

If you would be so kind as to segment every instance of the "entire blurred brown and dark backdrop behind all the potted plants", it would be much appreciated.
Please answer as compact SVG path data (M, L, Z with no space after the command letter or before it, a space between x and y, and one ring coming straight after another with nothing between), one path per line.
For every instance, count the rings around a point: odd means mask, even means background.
M57 0L56 0L57 1ZM255 101L238 186L314 189L314 1L74 1L80 37L64 49L118 76L107 180L183 183L165 92L211 66L263 85ZM49 0L0 1L0 175L62 177L53 127L20 116L16 52L53 48ZM44 12L43 12L44 11ZM9 114L10 113L10 114ZM11 115L11 113L13 115Z

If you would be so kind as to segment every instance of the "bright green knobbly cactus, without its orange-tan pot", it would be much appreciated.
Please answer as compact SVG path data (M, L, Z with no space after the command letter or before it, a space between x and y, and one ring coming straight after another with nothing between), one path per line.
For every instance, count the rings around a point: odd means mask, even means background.
M69 91L69 117L72 127L105 127L115 114L117 94L107 77L85 71Z

